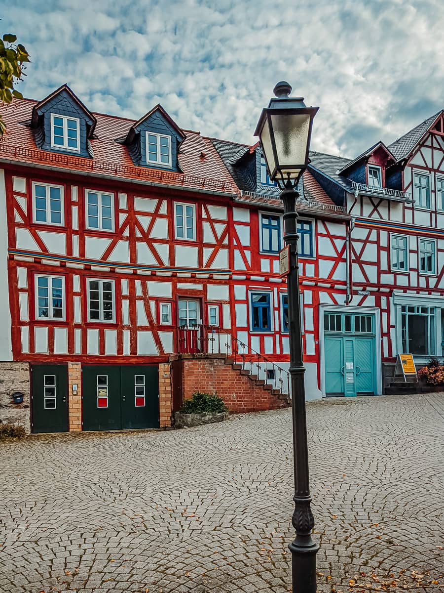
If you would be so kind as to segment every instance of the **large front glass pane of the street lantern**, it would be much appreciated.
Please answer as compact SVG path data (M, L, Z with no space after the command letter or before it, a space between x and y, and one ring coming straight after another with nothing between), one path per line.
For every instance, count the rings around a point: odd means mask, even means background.
M291 165L305 165L310 114L271 114L278 167L288 171ZM297 173L300 171L298 167Z

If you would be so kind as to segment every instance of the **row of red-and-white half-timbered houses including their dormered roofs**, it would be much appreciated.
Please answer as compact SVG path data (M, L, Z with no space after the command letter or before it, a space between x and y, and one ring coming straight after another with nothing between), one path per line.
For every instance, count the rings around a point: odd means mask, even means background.
M282 206L258 145L181 130L160 106L138 122L94 114L66 86L4 113L0 359L30 364L32 430L169 425L181 354L240 356L250 372L254 359L288 393ZM440 354L442 113L422 126L353 161L311 153L310 398L380 394L397 352Z

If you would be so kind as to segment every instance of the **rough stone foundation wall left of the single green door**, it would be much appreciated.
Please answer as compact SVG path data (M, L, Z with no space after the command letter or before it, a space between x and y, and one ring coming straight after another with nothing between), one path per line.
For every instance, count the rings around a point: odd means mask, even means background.
M15 404L12 394L24 394L23 403ZM20 424L27 433L30 423L30 367L27 362L0 362L0 420Z

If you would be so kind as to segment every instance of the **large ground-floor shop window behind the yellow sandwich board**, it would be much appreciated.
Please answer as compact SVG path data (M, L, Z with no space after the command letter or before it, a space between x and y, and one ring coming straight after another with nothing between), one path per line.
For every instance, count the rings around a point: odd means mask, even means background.
M435 355L435 317L434 307L401 306L402 352Z

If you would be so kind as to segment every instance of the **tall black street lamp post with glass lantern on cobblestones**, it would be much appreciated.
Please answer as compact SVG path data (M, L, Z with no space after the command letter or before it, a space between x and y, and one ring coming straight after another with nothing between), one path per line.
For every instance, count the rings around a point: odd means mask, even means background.
M299 300L299 271L295 190L308 164L311 126L318 107L305 107L303 98L291 98L288 82L278 82L276 98L262 110L255 136L259 136L269 177L278 182L284 202L284 241L289 248L288 321L290 376L294 447L294 503L292 525L295 539L289 544L292 554L293 593L316 593L316 553L318 544L311 539L314 518L310 503L308 476L307 421L305 417L304 362Z

